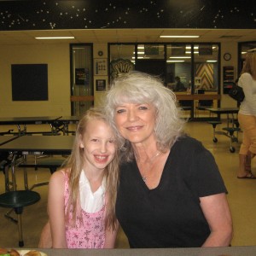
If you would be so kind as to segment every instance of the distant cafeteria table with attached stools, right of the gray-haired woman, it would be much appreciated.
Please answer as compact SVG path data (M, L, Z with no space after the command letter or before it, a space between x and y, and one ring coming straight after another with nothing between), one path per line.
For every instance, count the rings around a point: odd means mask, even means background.
M235 115L238 113L239 108L207 108L210 113L218 114L218 118L222 114L227 115L227 125L222 128L224 131L216 131L215 128L217 125L222 124L221 121L208 121L209 124L212 125L213 128L213 143L218 143L218 139L216 134L224 135L226 137L230 137L230 152L234 153L236 149L233 147L233 143L238 143L238 132L241 131L239 128L239 124ZM236 136L235 136L236 131Z

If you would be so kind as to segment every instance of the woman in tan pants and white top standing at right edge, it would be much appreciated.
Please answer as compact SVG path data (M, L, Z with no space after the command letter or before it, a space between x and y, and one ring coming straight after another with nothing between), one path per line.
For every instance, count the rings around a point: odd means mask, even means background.
M255 179L251 161L256 154L256 53L248 53L241 70L238 85L244 91L245 98L238 112L238 122L243 131L239 151L238 178Z

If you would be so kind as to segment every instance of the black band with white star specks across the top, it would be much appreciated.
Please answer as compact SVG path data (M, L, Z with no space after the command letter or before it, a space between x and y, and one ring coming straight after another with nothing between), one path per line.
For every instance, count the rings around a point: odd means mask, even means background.
M256 28L248 0L0 1L0 30Z

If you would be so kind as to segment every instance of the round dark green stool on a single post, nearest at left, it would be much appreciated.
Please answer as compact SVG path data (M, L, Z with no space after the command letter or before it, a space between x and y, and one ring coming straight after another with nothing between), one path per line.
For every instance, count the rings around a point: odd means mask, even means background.
M23 207L30 206L40 200L40 195L38 192L31 190L16 190L9 191L0 195L0 207L13 208L17 214L17 220L10 218L18 224L19 232L19 247L24 246L23 233L22 233L22 222L21 214L23 212ZM6 218L9 218L5 214ZM3 231L3 230L2 230Z

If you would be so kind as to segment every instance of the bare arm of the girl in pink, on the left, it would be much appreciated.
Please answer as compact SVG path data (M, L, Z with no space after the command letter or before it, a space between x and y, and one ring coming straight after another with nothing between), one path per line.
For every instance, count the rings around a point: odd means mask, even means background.
M64 212L64 175L54 172L49 179L48 214L53 248L67 248Z

